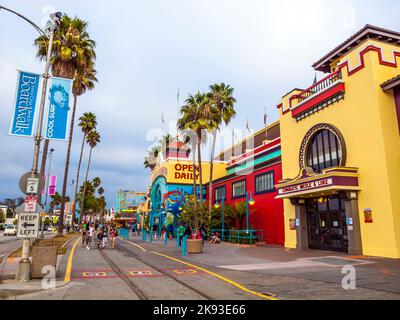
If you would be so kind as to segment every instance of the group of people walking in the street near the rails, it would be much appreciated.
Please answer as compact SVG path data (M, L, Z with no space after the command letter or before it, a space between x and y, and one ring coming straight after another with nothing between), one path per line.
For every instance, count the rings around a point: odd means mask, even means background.
M118 236L113 225L95 225L94 223L84 223L82 225L82 247L90 250L93 240L97 240L97 248L107 247L108 239L111 242L111 249L115 249L115 238Z

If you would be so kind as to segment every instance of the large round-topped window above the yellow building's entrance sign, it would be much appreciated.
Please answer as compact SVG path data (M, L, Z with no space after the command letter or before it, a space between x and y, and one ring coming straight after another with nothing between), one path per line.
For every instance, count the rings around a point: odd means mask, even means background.
M328 129L320 130L312 138L307 150L307 166L320 173L326 168L340 166L342 149L337 136Z

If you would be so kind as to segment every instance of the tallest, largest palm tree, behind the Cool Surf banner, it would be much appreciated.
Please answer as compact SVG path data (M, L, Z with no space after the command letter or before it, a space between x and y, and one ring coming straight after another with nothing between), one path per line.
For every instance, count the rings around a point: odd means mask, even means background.
M77 97L86 90L94 88L97 81L94 61L96 59L96 43L90 39L87 32L88 23L79 18L70 18L64 15L59 28L54 33L54 42L51 52L51 70L54 76L74 79L72 93L74 103L71 117L71 127L66 154L63 189L61 196L61 213L58 224L58 234L63 233L63 221L65 211L66 189L71 155L71 145L75 124ZM34 41L38 48L37 56L41 60L46 59L48 39L44 36ZM46 155L43 155L46 156Z

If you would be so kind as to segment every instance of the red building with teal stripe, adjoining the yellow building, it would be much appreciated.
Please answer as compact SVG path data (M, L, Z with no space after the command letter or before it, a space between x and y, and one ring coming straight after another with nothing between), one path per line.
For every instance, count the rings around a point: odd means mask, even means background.
M223 151L217 160L227 167L226 176L213 182L213 203L224 199L231 206L245 201L248 192L255 200L249 226L263 230L267 244L284 245L283 201L275 199L275 185L282 180L279 122Z

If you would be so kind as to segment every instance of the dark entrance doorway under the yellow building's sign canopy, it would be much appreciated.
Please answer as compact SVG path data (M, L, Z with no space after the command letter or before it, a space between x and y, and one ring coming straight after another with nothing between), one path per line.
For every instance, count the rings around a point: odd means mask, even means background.
M308 199L307 220L310 249L348 252L349 237L342 198Z

